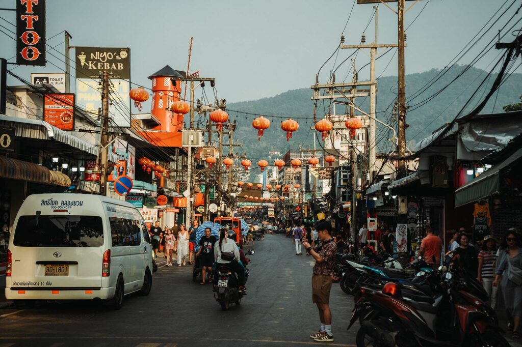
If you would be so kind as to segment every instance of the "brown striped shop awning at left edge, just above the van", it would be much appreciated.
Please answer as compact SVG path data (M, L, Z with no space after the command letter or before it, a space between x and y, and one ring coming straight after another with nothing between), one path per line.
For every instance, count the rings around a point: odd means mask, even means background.
M51 171L38 164L0 156L0 177L29 182L70 186L70 179L61 172Z

